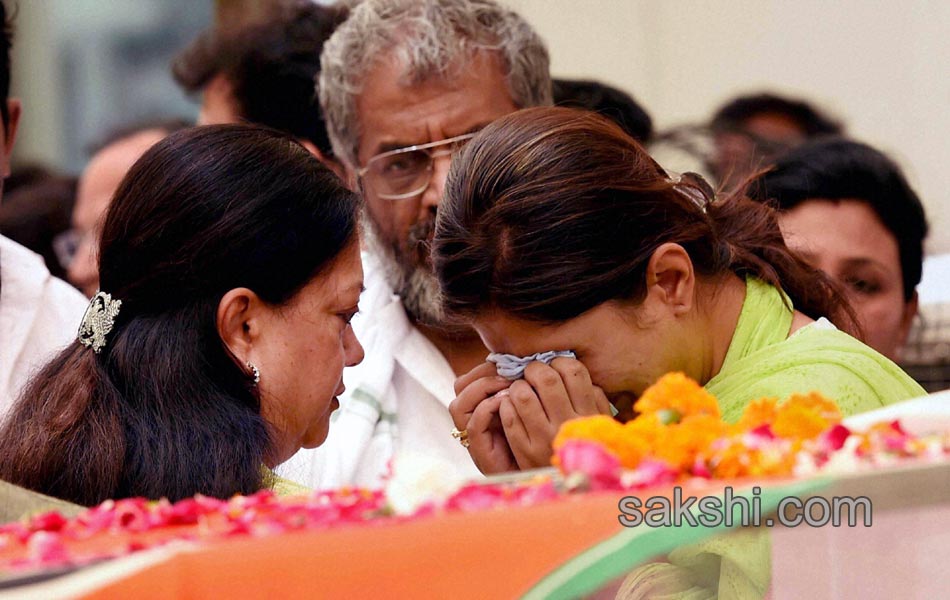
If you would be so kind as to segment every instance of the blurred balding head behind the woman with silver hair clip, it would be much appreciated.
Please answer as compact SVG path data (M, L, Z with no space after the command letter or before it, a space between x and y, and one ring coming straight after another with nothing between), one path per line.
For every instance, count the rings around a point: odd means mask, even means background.
M54 241L56 252L66 266L69 282L88 297L99 289L99 225L112 195L135 161L145 151L184 123L150 124L126 128L110 136L79 178L72 229Z

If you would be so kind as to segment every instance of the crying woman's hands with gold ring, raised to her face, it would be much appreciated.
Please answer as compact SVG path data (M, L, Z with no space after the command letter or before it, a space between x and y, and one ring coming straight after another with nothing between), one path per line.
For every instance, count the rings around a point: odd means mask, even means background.
M573 358L533 362L515 381L486 362L455 381L455 394L449 412L468 431L468 451L485 474L548 466L562 423L611 412L587 367Z

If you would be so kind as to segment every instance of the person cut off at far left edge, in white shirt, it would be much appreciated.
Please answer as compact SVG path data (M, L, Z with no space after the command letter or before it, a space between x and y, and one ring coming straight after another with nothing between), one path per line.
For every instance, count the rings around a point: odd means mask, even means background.
M20 102L7 97L11 42L0 0L0 202L20 120ZM82 294L51 276L43 257L0 236L0 421L33 371L73 339L85 310Z

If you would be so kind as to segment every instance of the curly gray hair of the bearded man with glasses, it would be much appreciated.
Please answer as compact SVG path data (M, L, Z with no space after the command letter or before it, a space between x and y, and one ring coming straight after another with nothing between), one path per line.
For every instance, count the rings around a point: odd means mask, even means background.
M548 52L515 12L493 0L365 0L323 46L317 92L333 151L358 165L356 97L386 55L408 65L409 85L450 78L473 54L497 52L518 108L551 104Z

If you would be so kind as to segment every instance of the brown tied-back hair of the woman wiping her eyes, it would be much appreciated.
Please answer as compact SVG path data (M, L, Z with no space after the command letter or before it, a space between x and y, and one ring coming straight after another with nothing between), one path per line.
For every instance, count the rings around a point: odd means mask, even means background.
M672 180L594 113L503 117L446 182L433 241L445 308L559 322L610 300L640 302L650 257L674 242L701 276L752 275L812 318L850 314L830 280L790 253L772 209L740 194L713 200L703 183Z

